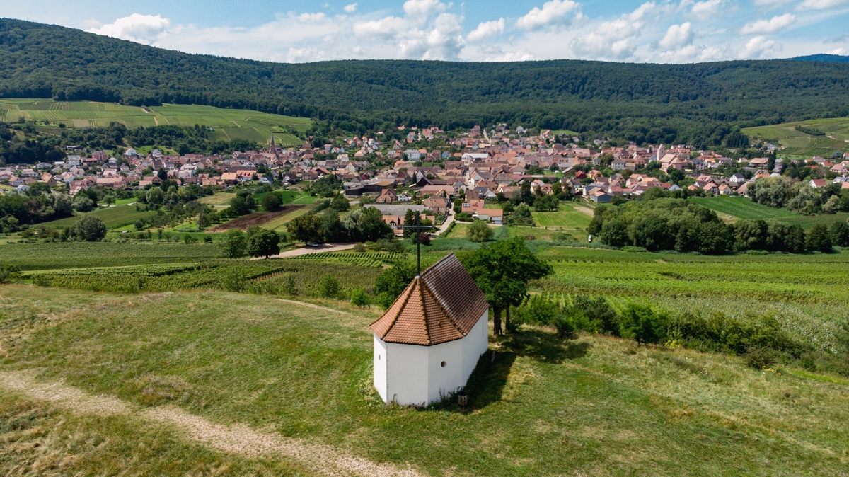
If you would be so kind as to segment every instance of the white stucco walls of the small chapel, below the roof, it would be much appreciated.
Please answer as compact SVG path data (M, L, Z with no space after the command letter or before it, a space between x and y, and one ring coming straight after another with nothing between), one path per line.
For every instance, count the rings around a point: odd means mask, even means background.
M385 343L374 335L374 387L380 397L426 406L463 387L489 345L487 324L484 311L462 340L433 346Z

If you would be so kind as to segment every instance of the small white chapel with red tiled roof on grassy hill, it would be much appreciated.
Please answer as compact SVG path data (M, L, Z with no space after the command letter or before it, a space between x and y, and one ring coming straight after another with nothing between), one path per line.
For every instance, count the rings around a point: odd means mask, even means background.
M374 387L386 403L427 406L464 387L486 352L489 305L457 257L413 279L374 331Z

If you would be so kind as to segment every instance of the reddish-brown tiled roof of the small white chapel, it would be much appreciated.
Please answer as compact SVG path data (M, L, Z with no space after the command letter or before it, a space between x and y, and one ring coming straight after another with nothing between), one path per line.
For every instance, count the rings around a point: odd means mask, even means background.
M449 254L414 278L371 328L390 343L438 345L469 334L488 308L486 295Z

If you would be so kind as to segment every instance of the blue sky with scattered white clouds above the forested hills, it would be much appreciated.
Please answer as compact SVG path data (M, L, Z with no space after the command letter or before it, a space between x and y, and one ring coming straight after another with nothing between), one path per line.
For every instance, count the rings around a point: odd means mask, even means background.
M849 0L0 0L0 16L188 53L282 62L693 63L849 54Z

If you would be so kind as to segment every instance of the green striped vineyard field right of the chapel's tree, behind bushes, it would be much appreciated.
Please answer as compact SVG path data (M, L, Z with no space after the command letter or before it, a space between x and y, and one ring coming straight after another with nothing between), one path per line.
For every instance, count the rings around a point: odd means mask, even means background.
M535 285L545 292L637 300L673 314L772 314L796 339L824 349L849 316L845 253L713 257L553 247L541 254L555 271Z

